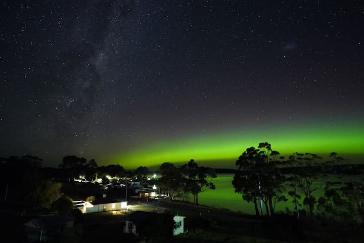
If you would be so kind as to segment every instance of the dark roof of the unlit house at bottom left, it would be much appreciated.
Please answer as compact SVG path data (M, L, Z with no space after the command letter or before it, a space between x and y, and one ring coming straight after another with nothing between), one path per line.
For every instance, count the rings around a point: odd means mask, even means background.
M33 228L55 227L74 220L76 220L76 218L70 213L42 215L39 218L28 221L25 225Z

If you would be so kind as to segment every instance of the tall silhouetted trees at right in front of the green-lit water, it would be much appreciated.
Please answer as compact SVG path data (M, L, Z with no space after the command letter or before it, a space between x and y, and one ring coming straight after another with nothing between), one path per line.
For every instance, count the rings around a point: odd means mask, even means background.
M364 184L349 175L363 175L363 170L362 166L334 165L344 160L336 152L324 161L313 153L295 152L285 158L272 150L269 143L259 143L257 148L247 148L239 156L232 183L236 193L254 204L256 215L274 215L276 205L289 200L285 194L288 192L298 218L300 211L301 215L314 217L317 209L324 217L340 218L346 214L354 220L363 215L364 194L361 191ZM347 177L343 180L342 177L329 177L330 174ZM320 189L324 194L316 198ZM301 203L307 211L299 209Z

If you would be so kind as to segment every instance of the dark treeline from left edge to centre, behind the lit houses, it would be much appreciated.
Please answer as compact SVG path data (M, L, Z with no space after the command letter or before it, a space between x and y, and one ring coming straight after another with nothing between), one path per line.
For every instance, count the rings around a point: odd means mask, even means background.
M1 184L5 188L5 202L21 205L26 209L40 209L44 212L56 210L57 200L62 193L62 185L67 183L75 187L77 181L103 185L117 182L140 182L147 186L147 167L140 166L135 170L125 170L120 165L98 166L95 159L87 160L74 155L65 156L59 168L42 167L42 159L36 156L10 156L0 158L0 169L3 172ZM171 199L177 194L184 198L186 193L194 195L198 204L198 195L206 189L214 189L212 179L215 171L209 167L200 167L191 159L187 164L174 167L164 163L160 168L162 178L153 180ZM86 198L83 198L86 199ZM71 200L71 198L68 198Z

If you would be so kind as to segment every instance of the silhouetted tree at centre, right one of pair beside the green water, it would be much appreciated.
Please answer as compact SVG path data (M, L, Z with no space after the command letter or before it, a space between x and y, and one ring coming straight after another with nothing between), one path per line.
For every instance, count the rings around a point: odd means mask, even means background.
M181 173L185 175L185 190L194 195L194 204L198 205L198 195L207 189L215 189L212 183L216 178L215 170L210 167L199 167L195 160L191 159L188 164L180 167Z

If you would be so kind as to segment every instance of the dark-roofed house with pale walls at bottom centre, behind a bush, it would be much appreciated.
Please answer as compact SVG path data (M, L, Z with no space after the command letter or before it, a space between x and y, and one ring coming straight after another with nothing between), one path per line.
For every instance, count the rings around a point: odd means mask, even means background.
M157 214L157 213L150 213L150 212L142 212L142 211L135 211L134 213L130 214L127 220L125 220L124 225L124 233L133 233L137 234L136 229L138 226L142 226L145 224L153 224L154 222L157 222L158 219L163 217L171 217L171 215L168 214ZM179 216L175 215L173 216L174 226L173 229L173 235L177 235L184 232L184 219L185 216ZM160 222L167 222L166 220L161 220ZM163 225L159 225L163 227ZM168 225L166 227L163 227L163 230L167 229Z

